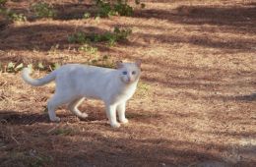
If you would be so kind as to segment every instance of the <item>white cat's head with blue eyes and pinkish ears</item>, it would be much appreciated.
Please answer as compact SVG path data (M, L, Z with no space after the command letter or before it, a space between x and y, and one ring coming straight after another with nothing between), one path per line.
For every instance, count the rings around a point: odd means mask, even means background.
M141 76L141 61L135 63L116 62L117 70L119 72L120 80L123 83L135 83Z

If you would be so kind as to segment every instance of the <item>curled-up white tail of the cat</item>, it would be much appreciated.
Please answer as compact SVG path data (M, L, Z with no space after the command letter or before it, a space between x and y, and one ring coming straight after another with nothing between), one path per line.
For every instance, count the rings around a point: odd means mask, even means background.
M32 74L32 70L29 68L25 68L22 72L22 78L26 83L32 84L34 86L50 83L56 78L56 71L51 72L50 74L41 79L32 79L30 74Z

